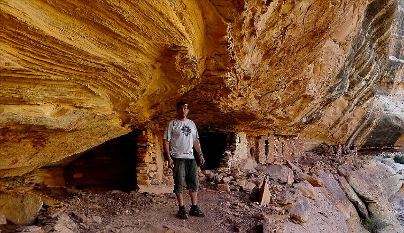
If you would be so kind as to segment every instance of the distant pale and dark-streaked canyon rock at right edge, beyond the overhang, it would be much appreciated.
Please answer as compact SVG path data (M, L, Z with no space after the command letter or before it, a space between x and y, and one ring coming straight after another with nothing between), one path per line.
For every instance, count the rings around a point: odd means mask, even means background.
M404 6L403 6L404 7ZM394 146L404 142L404 61L389 57L387 67L381 74L377 95L368 110L368 119L352 137L363 147ZM364 134L368 132L368 134Z

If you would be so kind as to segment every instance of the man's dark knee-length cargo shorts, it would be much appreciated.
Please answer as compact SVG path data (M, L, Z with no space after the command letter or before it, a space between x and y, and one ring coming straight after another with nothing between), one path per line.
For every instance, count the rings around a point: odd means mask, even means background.
M174 169L174 193L179 195L184 192L184 181L189 192L198 191L198 166L195 159L173 158Z

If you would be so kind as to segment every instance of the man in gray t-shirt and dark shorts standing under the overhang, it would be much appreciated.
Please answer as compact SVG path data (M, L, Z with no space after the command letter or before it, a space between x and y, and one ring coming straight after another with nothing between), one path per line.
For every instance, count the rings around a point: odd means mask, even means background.
M204 155L200 150L199 136L195 124L186 118L188 114L188 104L186 102L177 103L178 117L171 120L164 132L163 147L168 161L168 166L173 169L174 193L177 195L179 204L178 217L188 218L188 213L183 204L184 181L186 189L191 196L190 215L205 217L205 213L199 210L196 205L198 193L198 167L193 157L192 146L199 154L199 165L204 165ZM171 159L172 157L172 159Z

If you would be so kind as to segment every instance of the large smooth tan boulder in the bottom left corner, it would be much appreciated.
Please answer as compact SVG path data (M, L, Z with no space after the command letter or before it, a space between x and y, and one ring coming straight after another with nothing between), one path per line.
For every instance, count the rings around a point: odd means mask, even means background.
M0 213L14 224L32 225L42 204L42 199L33 193L0 190Z

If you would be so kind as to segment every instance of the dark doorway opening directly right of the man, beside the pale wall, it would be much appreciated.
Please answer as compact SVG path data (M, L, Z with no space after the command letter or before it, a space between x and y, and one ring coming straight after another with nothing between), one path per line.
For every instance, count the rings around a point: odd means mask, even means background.
M200 168L203 170L211 170L220 167L220 160L223 158L223 152L226 150L227 134L200 132L199 142L204 153L205 165ZM194 156L198 156L195 149Z

